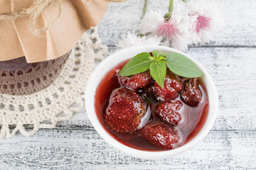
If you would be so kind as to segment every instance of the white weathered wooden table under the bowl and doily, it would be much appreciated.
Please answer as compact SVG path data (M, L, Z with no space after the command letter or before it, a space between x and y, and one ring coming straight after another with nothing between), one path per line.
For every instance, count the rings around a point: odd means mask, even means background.
M0 139L0 169L256 169L256 1L218 1L225 25L215 42L187 51L206 67L219 96L218 118L198 145L168 159L129 157L102 140L83 110L53 130ZM149 8L165 12L168 3L149 0ZM137 30L143 5L110 4L98 26L107 55L122 33Z

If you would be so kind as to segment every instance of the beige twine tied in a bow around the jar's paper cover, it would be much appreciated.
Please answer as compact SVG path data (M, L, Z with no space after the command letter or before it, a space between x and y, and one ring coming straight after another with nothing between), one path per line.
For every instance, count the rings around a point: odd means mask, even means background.
M54 1L58 2L58 16L55 18L53 23L50 23L48 26L37 29L36 28L36 18L41 14L44 8L52 4ZM127 0L105 0L108 2L124 2ZM28 29L34 35L39 35L49 28L53 27L56 23L58 23L60 19L60 15L63 12L63 0L36 0L33 1L33 4L28 8L23 8L21 11L13 12L13 13L3 13L0 14L0 20L8 20L8 19L17 19L25 16L29 17L29 27Z

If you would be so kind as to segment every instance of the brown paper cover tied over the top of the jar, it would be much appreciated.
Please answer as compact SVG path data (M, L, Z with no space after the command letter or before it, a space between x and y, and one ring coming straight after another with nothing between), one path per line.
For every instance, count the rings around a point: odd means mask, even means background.
M0 14L21 11L33 0L1 0ZM52 28L33 35L28 29L29 16L0 20L0 61L26 57L28 63L53 60L69 52L82 33L102 20L105 0L63 0L63 12ZM36 28L43 28L58 17L58 4L50 4L37 18Z

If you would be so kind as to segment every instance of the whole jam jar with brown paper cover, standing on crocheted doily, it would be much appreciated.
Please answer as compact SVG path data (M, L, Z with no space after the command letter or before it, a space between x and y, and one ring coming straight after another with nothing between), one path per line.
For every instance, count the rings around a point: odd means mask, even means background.
M0 14L21 11L33 0L0 0ZM36 36L28 30L29 17L0 20L0 93L26 95L55 81L82 33L96 26L107 8L105 0L63 0L58 23ZM36 28L58 17L58 4L43 9Z

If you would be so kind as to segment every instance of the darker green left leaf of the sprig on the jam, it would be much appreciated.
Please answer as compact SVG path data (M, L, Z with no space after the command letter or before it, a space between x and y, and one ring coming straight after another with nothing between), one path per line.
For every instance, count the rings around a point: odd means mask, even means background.
M153 60L149 59L149 52L142 52L133 57L119 72L121 76L130 76L133 74L145 72Z

